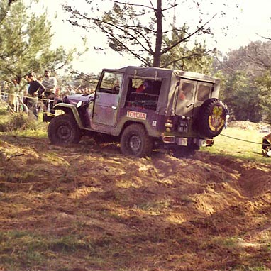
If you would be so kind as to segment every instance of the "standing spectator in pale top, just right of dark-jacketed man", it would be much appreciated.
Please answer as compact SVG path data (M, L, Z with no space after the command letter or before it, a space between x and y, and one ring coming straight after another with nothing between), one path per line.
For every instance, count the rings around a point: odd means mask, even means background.
M50 111L50 113L54 114L55 111L52 109L54 106L55 100L55 91L57 88L57 79L51 76L49 70L45 70L44 72L45 78L43 79L43 86L45 87L45 102L44 102L44 110Z

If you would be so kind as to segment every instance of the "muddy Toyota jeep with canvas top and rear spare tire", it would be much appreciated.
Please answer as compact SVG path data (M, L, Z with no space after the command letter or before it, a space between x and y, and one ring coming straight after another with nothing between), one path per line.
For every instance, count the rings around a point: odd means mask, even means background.
M148 88L138 88L148 82ZM143 90L145 89L145 90ZM143 92L139 92L142 91ZM54 109L48 137L53 144L79 143L84 135L114 136L124 155L145 157L153 148L181 153L213 145L225 105L219 80L157 67L104 69L94 94L65 96Z

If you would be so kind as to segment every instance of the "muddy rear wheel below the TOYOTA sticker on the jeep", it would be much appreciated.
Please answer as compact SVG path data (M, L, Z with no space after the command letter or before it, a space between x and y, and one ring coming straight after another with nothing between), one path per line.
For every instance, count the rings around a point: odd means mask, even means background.
M153 150L153 138L140 124L131 124L121 135L121 153L133 157L146 157Z

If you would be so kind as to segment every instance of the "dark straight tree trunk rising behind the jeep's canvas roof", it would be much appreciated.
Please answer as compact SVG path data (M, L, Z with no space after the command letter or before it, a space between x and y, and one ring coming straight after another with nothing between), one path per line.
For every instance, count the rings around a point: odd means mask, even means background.
M162 47L162 0L157 0L156 9L156 40L155 53L153 55L153 67L160 67L161 47Z

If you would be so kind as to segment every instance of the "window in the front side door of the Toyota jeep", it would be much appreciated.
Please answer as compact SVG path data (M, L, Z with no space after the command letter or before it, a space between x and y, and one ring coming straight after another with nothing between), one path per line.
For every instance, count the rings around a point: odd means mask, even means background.
M116 72L104 72L98 92L118 94L123 80L123 74Z

